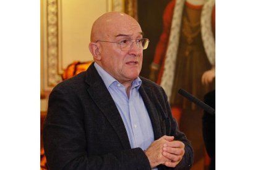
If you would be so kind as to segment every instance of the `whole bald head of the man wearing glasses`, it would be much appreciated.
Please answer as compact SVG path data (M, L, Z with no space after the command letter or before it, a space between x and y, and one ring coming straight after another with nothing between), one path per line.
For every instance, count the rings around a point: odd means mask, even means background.
M134 18L108 12L93 23L88 47L95 63L128 89L142 69L143 49L138 45L142 38L142 29Z

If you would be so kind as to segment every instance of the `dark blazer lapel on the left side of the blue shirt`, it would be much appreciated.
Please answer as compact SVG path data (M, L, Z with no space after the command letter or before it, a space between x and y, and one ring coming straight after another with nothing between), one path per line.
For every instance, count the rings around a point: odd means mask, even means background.
M121 115L103 80L100 75L98 75L98 72L94 67L94 63L92 63L87 70L86 81L90 84L90 87L87 90L88 93L98 108L100 108L101 112L106 116L109 123L113 126L114 131L116 131L119 136L122 146L125 149L131 148L126 127L124 126Z

